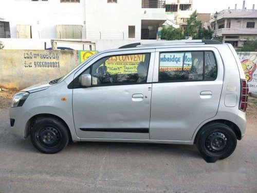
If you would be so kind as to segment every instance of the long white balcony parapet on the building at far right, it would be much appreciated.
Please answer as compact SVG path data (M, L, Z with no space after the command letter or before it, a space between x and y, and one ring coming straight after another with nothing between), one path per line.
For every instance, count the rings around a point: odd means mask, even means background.
M257 34L257 28L221 28L214 30L212 36L224 36L224 35L247 35L247 34Z

